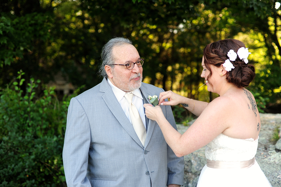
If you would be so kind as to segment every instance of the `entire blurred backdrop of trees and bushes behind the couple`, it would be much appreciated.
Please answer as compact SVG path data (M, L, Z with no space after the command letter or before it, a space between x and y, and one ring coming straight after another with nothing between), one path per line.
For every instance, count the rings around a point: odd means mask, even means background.
M281 113L280 16L275 0L1 0L0 186L66 186L69 100L101 82L101 48L114 36L145 59L144 82L208 102L218 95L202 86L203 48L241 40L259 111ZM177 123L194 118L173 112Z

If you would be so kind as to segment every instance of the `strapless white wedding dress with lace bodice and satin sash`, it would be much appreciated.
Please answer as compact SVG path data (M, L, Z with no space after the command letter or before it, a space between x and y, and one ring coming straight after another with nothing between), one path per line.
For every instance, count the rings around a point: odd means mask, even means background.
M197 187L272 187L254 159L258 139L218 135L206 146Z

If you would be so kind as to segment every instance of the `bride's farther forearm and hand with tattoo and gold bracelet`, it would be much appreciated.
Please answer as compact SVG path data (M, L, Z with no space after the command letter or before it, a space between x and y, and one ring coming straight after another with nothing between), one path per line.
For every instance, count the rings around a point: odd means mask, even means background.
M165 101L165 99L169 98L170 101ZM172 91L161 92L159 95L159 105L178 105L181 104L188 111L193 113L195 116L200 116L202 111L209 104L204 101L193 100L184 96L180 96Z

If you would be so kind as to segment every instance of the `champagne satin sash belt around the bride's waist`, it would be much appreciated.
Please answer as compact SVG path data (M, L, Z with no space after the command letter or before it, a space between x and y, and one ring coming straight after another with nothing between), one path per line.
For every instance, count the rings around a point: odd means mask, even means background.
M221 169L221 168L249 168L255 163L255 157L251 160L241 161L241 162L223 162L223 161L214 161L207 159L207 166L209 168Z

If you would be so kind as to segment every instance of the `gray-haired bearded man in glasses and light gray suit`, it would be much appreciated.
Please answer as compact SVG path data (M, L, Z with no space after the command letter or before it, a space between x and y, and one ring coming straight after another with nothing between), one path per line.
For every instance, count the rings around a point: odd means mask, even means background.
M62 154L67 186L183 185L183 157L175 156L156 122L145 117L148 95L164 90L141 82L144 60L128 39L109 40L101 59L102 82L68 107ZM170 106L160 107L176 129Z

